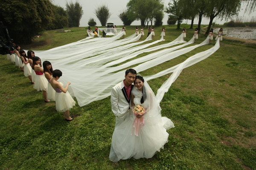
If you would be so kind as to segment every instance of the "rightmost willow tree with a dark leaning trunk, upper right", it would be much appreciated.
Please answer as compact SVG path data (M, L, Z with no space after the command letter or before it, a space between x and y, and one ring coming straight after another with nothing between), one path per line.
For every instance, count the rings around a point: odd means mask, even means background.
M205 35L209 34L212 26L212 21L215 17L228 19L236 14L241 6L241 0L209 0L209 5L206 6L207 17L210 18L209 25Z

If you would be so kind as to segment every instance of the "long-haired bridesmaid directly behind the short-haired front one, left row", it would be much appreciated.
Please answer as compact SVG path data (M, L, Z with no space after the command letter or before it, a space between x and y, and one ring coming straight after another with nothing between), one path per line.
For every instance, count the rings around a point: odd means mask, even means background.
M52 64L49 61L43 62L43 68L44 68L44 76L48 81L47 86L47 98L51 101L55 101L55 90L52 88L50 84L50 79L52 79Z

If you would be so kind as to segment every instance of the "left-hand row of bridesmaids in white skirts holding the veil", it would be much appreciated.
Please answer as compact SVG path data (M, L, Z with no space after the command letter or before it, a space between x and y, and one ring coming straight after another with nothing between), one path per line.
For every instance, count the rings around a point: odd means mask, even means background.
M53 70L49 61L44 61L42 68L41 59L35 56L35 52L29 50L26 54L24 50L20 49L20 45L15 45L13 54L7 54L7 59L24 72L24 76L28 77L30 83L33 84L33 88L43 92L44 102L55 101L56 110L64 112L67 121L73 120L69 110L76 102L67 91L70 82L65 88L62 87L61 82L58 82L62 76L60 70Z

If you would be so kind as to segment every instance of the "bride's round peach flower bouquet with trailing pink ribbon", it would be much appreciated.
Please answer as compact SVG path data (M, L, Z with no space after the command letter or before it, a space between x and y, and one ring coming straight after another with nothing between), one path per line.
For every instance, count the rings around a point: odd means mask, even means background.
M134 106L132 111L135 115L143 115L145 113L145 108L143 108L140 105L136 105ZM133 127L134 127L134 135L136 136L139 136L140 125L144 126L144 117L141 117L141 118L136 117L134 119Z

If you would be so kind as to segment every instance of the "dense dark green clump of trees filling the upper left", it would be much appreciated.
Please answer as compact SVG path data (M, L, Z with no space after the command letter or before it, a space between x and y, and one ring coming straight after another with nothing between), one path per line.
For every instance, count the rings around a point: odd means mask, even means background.
M79 26L82 7L66 4L66 10L51 0L1 0L0 21L17 43L28 44L43 30Z

